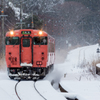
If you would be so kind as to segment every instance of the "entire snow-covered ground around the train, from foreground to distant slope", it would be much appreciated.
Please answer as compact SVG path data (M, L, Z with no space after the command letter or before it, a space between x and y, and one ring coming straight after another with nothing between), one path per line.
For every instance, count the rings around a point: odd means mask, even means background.
M57 100L66 100L64 98L66 95L69 97L75 96L79 100L99 100L100 76L95 72L95 64L97 63L97 60L100 59L99 54L96 53L97 48L98 44L70 51L68 55L66 55L65 62L62 64L56 64L54 66L54 71L42 80L43 83L41 83L41 81L36 83L36 87L40 94L42 94L43 97L46 97L46 99L49 98L47 100L55 100L55 98ZM52 88L49 81L52 81L53 87L58 92ZM1 71L0 94L2 96L0 95L0 99L2 98L2 100L6 100L7 97L7 100L17 100L18 98L15 96L16 94L14 92L14 86L16 83L17 81L8 78L7 72ZM60 93L58 83L68 91L67 94ZM27 100L26 98L30 98L30 96L33 98L32 93L34 95L36 94L36 91L34 91L34 82L21 82L18 85L18 93L22 100ZM41 99L38 94L34 97Z

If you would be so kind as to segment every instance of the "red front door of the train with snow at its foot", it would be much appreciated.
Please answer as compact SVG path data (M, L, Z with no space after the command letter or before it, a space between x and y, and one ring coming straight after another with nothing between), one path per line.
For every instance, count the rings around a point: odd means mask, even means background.
M32 64L32 38L23 37L21 38L21 64Z

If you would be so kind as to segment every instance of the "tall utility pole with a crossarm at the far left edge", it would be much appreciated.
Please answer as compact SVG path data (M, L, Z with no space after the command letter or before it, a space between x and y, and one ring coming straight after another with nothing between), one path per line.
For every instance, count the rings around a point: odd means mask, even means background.
M4 15L4 0L1 1L2 10L0 17L2 18L2 26L1 26L1 36L2 36L2 57L5 55L5 33L4 33L4 17L7 15Z

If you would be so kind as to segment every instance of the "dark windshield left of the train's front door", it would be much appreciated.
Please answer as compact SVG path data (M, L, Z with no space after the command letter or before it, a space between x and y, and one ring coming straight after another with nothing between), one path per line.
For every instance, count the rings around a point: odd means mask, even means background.
M19 45L19 37L6 37L6 45Z

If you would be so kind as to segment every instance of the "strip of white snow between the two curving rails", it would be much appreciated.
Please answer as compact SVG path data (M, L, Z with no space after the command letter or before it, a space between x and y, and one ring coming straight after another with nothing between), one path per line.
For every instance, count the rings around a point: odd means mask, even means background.
M18 95L21 100L44 100L34 89L33 81L21 81L17 86Z

